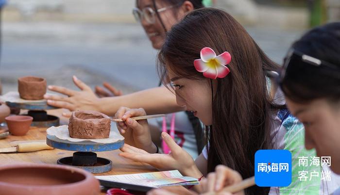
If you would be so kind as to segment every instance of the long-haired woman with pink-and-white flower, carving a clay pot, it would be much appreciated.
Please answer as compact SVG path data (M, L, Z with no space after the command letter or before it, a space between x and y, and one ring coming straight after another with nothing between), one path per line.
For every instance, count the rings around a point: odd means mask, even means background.
M125 145L120 156L146 162L159 170L178 169L183 175L206 179L207 185L194 186L198 193L218 191L254 176L255 152L259 149L287 149L292 154L292 182L288 187L245 190L249 195L319 195L331 192L320 178L299 181L299 172L321 175L317 166L299 167L299 157L316 156L304 147L304 128L285 108L283 94L274 85L279 66L257 46L245 29L230 15L218 9L200 9L189 13L174 25L159 53L158 70L164 84L171 83L177 103L186 106L206 125L207 146L202 154L192 158L173 142L167 133L163 139L171 154L151 154L143 148L148 142L146 120L135 121L132 116L145 115L143 109L121 108L116 116L126 120L135 135L135 145ZM150 139L149 139L150 140ZM224 178L215 183L211 173L219 164L237 171L236 179ZM211 173L211 174L208 174ZM158 193L158 192L157 192ZM161 193L163 193L161 191ZM160 194L161 194L160 193ZM240 192L242 194L242 192ZM326 194L326 193L324 193Z

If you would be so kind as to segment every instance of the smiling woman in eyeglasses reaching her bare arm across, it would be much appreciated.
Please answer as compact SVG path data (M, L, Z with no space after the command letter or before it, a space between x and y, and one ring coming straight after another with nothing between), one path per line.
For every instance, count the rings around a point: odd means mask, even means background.
M133 15L145 30L154 49L160 49L163 45L166 33L172 25L176 24L187 13L203 7L202 0L136 0ZM49 90L59 92L65 96L45 95L48 104L55 107L75 110L94 110L113 116L121 106L130 108L144 108L147 114L168 114L164 120L153 120L153 139L159 139L159 130L170 130L176 142L182 146L193 158L196 158L204 147L204 134L201 124L185 107L176 104L175 96L166 87L158 83L158 87L123 95L108 83L104 86L117 97L106 97L108 94L99 86L96 94L84 82L73 77L73 82L81 89L74 91L60 86L49 86ZM156 85L157 86L157 85ZM63 114L69 116L69 113ZM172 124L172 125L171 125ZM194 131L193 129L199 129ZM123 136L128 136L122 130ZM156 138L154 138L156 137ZM156 151L156 146L151 146L150 151Z

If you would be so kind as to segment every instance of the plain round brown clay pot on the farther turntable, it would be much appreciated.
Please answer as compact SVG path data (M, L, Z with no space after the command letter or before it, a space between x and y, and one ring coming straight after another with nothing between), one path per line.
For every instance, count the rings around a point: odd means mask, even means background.
M46 80L40 77L21 77L18 80L19 95L23 99L43 99L46 94Z

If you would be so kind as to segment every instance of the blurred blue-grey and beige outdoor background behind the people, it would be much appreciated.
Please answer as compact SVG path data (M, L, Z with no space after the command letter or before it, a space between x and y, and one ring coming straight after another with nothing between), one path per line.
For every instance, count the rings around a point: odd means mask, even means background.
M340 0L213 2L279 64L307 29L340 20ZM134 6L135 0L7 0L1 9L2 93L16 91L17 78L28 75L71 88L72 75L92 87L108 81L124 94L157 86L157 51L132 16Z

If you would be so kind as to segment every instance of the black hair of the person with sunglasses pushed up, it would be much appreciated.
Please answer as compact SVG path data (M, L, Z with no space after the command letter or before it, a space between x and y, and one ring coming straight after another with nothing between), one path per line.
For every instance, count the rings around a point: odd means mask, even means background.
M340 100L340 22L312 29L292 45L303 54L331 63L337 68L290 61L280 85L285 95L296 102L317 98Z

